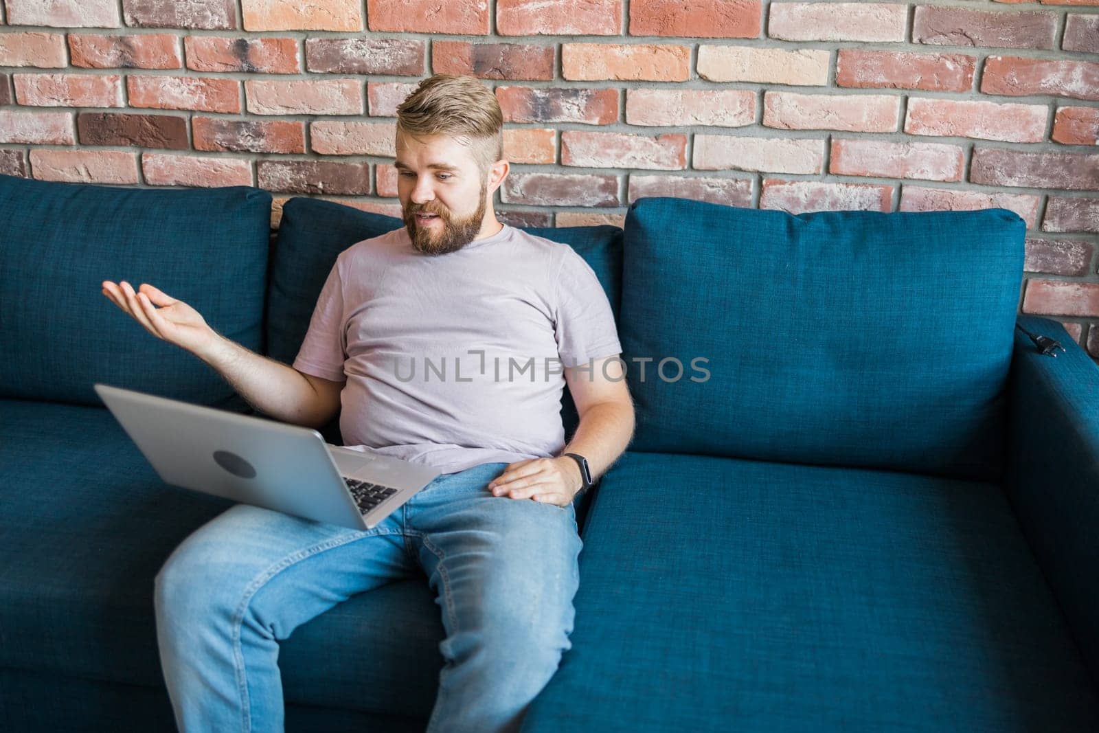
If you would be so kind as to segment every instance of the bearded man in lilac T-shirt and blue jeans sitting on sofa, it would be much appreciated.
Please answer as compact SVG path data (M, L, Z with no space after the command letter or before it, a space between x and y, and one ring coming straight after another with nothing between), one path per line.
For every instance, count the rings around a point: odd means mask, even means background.
M518 730L570 647L582 478L565 454L598 477L625 449L633 407L591 268L496 218L501 129L469 77L425 79L398 108L404 227L340 254L292 368L151 285L103 282L262 412L317 427L342 404L348 446L443 470L369 531L236 504L185 540L155 588L180 730L281 730L278 642L395 578L425 574L442 609L429 731ZM565 384L580 414L568 445Z

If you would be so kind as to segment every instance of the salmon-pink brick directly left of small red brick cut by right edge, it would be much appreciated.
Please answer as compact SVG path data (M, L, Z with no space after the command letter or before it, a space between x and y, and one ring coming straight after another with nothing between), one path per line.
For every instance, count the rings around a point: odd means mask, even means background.
M998 104L977 100L910 97L904 132L1002 140L1010 143L1041 143L1045 140L1045 104Z

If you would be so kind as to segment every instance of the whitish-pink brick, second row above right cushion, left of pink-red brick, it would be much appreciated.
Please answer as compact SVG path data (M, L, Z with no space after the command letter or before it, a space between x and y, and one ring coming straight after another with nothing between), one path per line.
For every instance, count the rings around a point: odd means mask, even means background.
M819 174L824 167L824 141L741 135L695 135L692 167L699 170L762 170Z

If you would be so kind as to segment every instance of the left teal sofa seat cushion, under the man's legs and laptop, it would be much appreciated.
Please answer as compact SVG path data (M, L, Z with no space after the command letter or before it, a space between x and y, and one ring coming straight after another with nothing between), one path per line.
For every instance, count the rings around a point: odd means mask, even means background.
M163 686L153 578L231 501L168 486L102 408L0 400L0 667ZM289 702L426 717L444 630L428 579L303 624Z

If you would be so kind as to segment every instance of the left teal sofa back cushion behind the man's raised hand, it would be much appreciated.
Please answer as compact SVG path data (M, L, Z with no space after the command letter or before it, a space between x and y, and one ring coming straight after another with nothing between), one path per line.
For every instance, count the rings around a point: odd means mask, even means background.
M137 189L0 176L0 397L103 402L104 382L208 406L233 388L148 333L102 281L148 282L262 348L269 193Z

